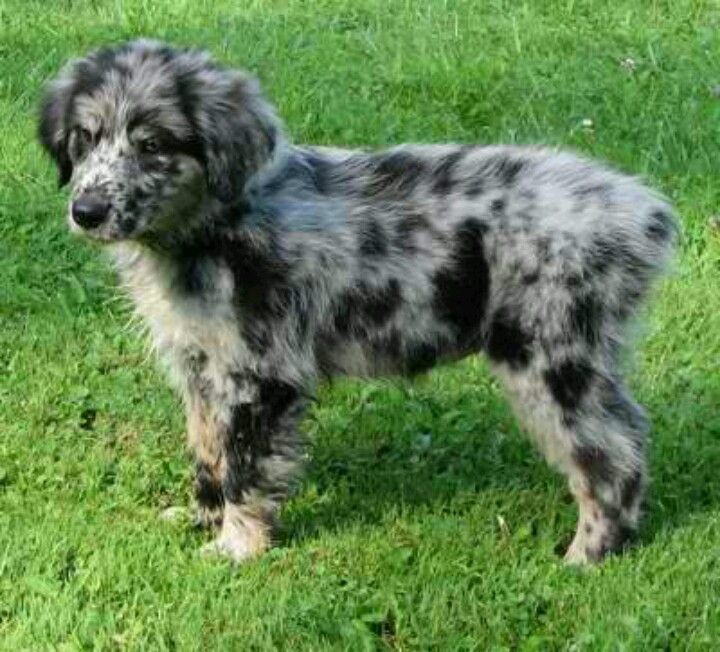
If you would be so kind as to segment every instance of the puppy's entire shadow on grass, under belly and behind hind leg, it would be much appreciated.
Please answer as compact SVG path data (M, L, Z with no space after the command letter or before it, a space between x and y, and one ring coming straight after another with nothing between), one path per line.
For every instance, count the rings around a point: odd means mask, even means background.
M494 383L483 377L476 386L452 392L435 391L437 386L348 383L337 393L331 390L326 403L321 399L308 419L310 460L283 515L281 544L380 524L398 510L469 509L468 496L489 490L511 499L523 492L541 498L544 492L548 500L559 491L566 496L565 519L574 519L564 479L534 450ZM689 393L676 395L672 409L661 399L647 405L655 429L640 544L720 505L714 408L720 402L713 403L713 396L698 399ZM558 537L569 542L571 534Z

